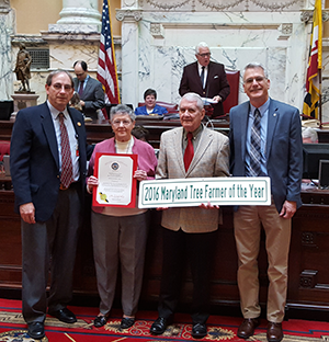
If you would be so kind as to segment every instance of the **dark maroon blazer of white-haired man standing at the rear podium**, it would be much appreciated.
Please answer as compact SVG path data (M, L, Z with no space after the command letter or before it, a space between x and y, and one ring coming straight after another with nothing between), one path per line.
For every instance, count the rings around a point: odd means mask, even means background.
M226 78L224 65L219 62L211 61L208 65L208 73L203 89L197 61L192 62L184 67L181 84L179 89L180 95L184 95L188 92L195 92L202 98L213 99L216 95L222 98L222 101L217 104L212 104L214 107L214 117L224 115L223 102L229 95L229 84Z

